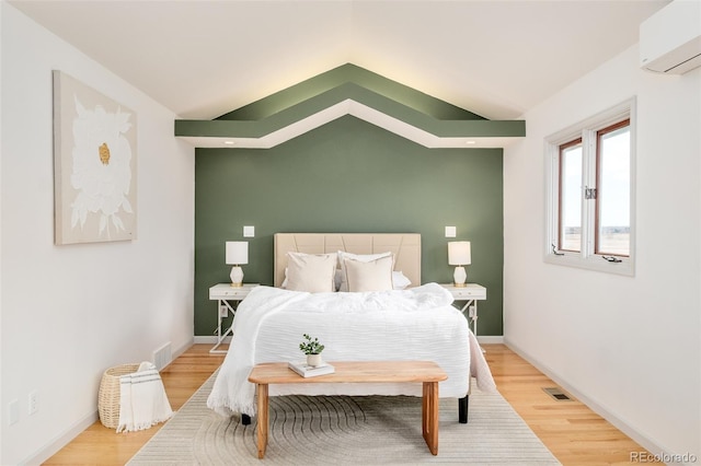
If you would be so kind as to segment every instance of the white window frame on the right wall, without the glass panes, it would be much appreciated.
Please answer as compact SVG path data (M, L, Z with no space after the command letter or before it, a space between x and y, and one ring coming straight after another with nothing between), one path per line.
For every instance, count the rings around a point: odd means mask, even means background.
M635 97L632 97L619 105L616 105L614 107L604 110L584 121L545 138L545 263L631 277L635 275L635 147L637 140L635 107ZM604 258L604 256L610 256L595 253L595 202L584 199L584 188L596 188L597 131L627 118L630 119L631 138L630 256L616 256L617 261L610 261ZM560 220L560 147L577 138L582 138L583 147L582 251L558 251L556 246Z

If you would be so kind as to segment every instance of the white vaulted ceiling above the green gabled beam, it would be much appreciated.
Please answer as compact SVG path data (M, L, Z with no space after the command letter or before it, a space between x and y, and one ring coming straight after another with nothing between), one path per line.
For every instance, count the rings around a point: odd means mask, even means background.
M344 63L514 119L637 42L663 1L11 1L181 118Z

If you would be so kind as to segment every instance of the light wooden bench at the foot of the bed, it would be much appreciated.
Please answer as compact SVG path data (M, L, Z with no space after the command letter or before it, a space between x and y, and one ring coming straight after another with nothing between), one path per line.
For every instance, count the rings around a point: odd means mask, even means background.
M257 441L258 458L265 456L268 423L269 384L319 383L423 383L422 433L434 455L438 454L438 382L448 378L438 364L432 361L364 361L331 362L333 374L302 377L286 362L257 364L249 375L249 382L257 385Z

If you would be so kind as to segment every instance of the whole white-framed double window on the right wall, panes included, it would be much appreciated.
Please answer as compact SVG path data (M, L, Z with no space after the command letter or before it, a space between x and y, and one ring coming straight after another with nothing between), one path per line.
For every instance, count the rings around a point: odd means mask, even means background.
M634 101L545 140L545 260L633 275Z

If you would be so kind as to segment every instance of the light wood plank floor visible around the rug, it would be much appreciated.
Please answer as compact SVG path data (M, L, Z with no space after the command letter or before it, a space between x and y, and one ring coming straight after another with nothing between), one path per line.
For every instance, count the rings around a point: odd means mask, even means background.
M221 364L208 345L195 345L161 371L171 406L177 410ZM502 395L563 465L634 464L643 452L609 422L577 400L556 401L543 387L550 378L504 345L484 345L486 360ZM99 421L50 457L46 465L123 465L160 429L116 433Z

